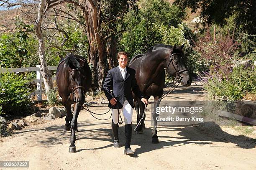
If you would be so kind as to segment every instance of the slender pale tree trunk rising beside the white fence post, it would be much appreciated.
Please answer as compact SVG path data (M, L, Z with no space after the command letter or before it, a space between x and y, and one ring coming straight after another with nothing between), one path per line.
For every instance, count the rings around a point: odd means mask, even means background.
M44 79L44 86L46 89L46 94L48 96L48 92L50 89L53 89L53 83L51 80L51 72L47 69L47 63L45 59L45 44L44 44L44 35L41 31L41 23L42 23L42 18L44 14L44 3L45 0L40 0L39 6L38 6L38 16L35 22L35 30L36 30L36 36L39 41L39 49L38 49L38 54L40 58L40 63L41 63L41 74ZM48 97L47 97L48 99Z

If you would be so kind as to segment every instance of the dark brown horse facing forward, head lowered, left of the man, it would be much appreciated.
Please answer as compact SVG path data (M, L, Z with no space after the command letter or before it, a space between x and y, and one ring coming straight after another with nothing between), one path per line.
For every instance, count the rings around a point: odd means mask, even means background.
M69 153L76 151L74 145L77 131L77 117L80 109L84 104L84 93L86 93L92 85L92 72L87 60L81 56L69 54L63 58L56 72L56 82L59 88L59 96L67 109L66 130L70 130L70 146ZM71 104L74 103L74 116L71 111Z

